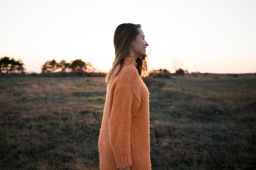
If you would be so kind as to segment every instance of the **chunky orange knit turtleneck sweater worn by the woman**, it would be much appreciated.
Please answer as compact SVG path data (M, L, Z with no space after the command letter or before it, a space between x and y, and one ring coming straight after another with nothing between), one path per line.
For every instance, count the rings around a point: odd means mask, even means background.
M136 64L126 57L108 83L98 143L101 170L151 170L149 93Z

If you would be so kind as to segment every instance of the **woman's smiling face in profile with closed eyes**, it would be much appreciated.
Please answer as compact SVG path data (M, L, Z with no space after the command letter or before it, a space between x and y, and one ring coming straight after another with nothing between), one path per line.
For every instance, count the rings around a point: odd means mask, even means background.
M141 28L137 28L139 34L136 36L135 40L132 42L132 47L130 49L129 57L137 60L141 56L146 56L146 47L148 42L145 40L144 32Z

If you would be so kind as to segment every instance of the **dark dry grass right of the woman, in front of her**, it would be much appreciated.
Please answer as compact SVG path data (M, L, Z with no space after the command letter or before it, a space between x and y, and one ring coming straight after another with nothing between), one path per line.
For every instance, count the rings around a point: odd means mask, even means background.
M159 136L157 144L151 131L154 169L256 168L254 74L184 75L165 80L160 91L150 89L151 128L155 125ZM159 161L161 155L170 158L167 165Z

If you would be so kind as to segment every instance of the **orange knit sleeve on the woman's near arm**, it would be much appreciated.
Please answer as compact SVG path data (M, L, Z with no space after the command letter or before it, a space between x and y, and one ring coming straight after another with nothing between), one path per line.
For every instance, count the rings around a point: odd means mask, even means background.
M139 107L139 101L130 85L113 92L109 117L109 135L117 168L132 165L130 147L131 112Z

